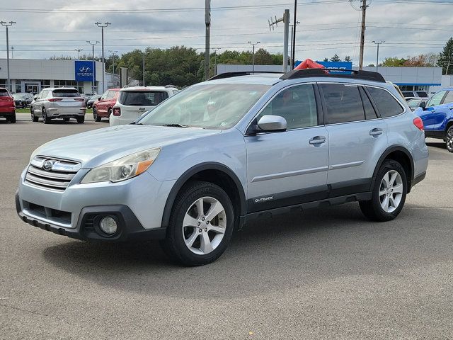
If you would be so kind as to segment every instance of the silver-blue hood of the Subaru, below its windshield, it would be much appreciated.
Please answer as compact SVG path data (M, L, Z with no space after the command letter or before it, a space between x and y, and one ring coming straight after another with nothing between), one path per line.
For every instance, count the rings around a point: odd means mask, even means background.
M164 148L166 145L220 132L200 128L120 125L52 140L38 147L31 158L40 155L70 159L81 162L83 169L91 169L144 149Z

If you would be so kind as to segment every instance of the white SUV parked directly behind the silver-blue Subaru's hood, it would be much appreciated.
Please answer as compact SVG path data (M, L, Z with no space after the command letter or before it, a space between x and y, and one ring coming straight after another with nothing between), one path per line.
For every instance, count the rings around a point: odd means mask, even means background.
M110 126L134 122L143 113L177 92L178 89L173 86L134 86L121 89L110 115Z

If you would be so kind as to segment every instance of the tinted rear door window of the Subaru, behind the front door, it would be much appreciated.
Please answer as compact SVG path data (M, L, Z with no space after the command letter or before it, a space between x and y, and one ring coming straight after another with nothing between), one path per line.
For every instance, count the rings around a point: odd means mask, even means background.
M321 84L327 124L365 120L359 88L355 85Z

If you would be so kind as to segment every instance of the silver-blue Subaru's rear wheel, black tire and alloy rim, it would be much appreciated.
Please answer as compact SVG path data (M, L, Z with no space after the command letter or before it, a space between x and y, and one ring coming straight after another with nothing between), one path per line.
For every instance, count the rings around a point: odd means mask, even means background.
M386 159L377 171L372 199L359 202L363 215L378 222L394 220L406 201L407 183L403 166L392 159Z

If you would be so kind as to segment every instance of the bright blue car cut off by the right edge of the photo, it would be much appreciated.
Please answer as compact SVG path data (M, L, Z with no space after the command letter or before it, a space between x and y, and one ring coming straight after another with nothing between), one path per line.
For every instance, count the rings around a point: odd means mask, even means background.
M421 102L415 112L423 120L425 137L440 138L453 152L453 89L443 89Z

